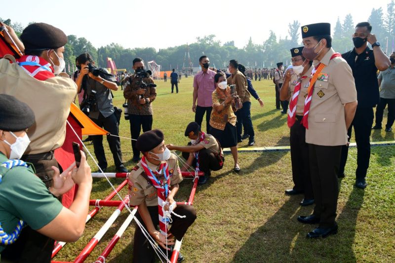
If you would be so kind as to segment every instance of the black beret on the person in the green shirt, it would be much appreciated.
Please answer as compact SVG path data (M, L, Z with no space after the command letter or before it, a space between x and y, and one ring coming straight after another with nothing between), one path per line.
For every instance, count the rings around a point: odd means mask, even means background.
M15 97L0 94L0 130L23 131L35 122L30 107Z

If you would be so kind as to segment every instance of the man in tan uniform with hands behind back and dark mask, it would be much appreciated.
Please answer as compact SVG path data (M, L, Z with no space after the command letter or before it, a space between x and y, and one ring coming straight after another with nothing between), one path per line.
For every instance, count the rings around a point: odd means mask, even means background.
M304 224L317 224L307 237L336 234L337 172L341 147L347 144L347 129L356 112L356 87L350 66L331 48L330 24L302 27L303 56L314 60L302 120L309 144L310 173L316 207ZM314 84L314 85L313 85ZM311 88L311 89L310 89Z

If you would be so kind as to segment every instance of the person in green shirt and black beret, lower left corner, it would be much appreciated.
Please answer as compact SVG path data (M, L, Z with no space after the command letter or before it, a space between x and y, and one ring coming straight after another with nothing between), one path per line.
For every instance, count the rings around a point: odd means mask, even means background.
M77 241L88 214L92 176L82 152L78 170L74 163L59 174L52 166L49 189L31 163L19 160L30 143L26 130L34 122L29 106L0 94L0 257L5 263L50 263L53 239ZM75 183L76 198L70 208L63 207L56 196ZM44 242L48 238L52 241Z

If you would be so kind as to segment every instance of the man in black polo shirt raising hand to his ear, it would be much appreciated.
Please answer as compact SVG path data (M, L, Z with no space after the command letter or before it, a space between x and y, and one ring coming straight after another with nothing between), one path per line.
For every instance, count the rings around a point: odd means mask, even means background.
M368 22L357 24L353 35L355 48L342 54L353 70L356 84L358 106L348 136L350 140L354 126L357 146L356 187L362 189L366 187L365 177L369 167L373 107L376 107L380 101L377 70L385 71L391 65L390 59L381 50L376 36L370 34L371 30L372 26ZM367 46L368 42L372 45L372 49ZM347 155L348 146L343 146L339 177L344 177Z

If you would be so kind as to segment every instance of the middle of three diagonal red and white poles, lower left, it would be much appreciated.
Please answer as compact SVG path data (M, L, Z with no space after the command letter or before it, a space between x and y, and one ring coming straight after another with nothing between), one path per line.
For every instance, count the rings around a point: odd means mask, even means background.
M125 203L129 202L129 196L127 195L123 198L123 202L118 206L117 210L111 215L111 217L107 220L107 222L100 228L100 230L95 234L95 236L89 241L89 243L85 246L85 248L79 253L78 257L74 260L74 263L82 263L86 260L92 250L99 243L100 239L104 236L108 229L110 229L111 225L115 222L115 220L120 215L120 212L125 207Z

